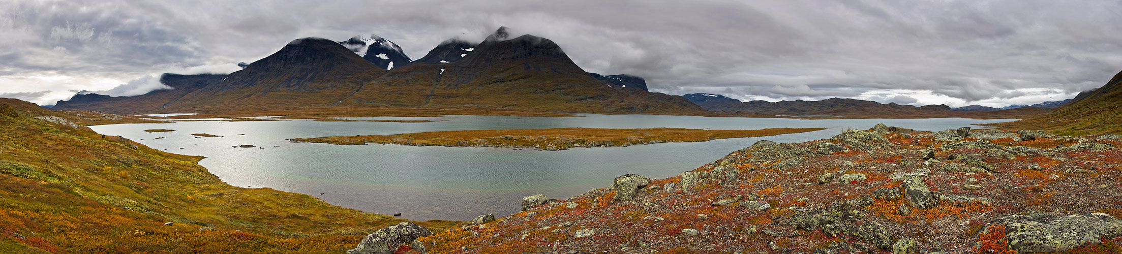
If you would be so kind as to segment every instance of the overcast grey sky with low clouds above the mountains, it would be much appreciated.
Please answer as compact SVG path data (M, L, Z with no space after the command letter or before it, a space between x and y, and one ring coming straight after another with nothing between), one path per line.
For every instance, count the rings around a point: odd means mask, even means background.
M301 37L375 34L416 59L498 28L653 92L1004 106L1122 70L1122 1L121 1L0 4L0 97L136 95L160 73L229 73Z

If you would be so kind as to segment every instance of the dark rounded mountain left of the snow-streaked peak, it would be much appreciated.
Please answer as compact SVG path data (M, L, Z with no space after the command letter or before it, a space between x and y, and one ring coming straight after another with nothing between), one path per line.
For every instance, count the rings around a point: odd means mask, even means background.
M164 111L328 106L386 72L339 43L295 39L222 82L169 103Z

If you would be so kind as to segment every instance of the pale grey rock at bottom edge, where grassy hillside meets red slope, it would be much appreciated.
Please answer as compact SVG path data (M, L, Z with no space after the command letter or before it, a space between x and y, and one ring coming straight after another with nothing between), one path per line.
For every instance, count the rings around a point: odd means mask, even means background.
M429 228L408 222L399 223L367 235L358 246L347 251L347 254L393 254L402 245L430 235L433 234Z

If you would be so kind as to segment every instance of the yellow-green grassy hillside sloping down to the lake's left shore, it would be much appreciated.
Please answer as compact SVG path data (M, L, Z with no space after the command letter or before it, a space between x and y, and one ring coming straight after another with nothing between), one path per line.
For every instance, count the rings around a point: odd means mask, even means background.
M233 187L201 157L34 117L55 114L0 100L0 253L342 253L403 222Z

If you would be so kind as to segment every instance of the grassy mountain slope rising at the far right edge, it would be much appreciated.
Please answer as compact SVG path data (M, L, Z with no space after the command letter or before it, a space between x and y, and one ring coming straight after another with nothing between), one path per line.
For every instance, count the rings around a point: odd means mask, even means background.
M1056 111L994 125L1047 130L1066 135L1122 134L1122 121L1119 121L1119 115L1122 115L1122 72L1102 87L1079 93Z

